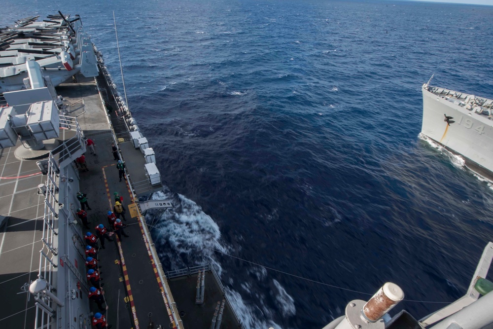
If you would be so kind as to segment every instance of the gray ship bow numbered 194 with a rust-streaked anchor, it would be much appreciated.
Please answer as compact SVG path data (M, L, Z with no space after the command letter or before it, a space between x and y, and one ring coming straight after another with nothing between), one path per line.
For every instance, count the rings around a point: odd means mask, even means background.
M463 156L470 169L493 178L493 101L428 84L422 91L422 134Z

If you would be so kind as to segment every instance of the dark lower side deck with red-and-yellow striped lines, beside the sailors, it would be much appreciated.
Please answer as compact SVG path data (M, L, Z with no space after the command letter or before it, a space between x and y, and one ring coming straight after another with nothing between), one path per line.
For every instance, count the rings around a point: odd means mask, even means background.
M64 90L60 93L70 100L72 97L70 84L61 87ZM73 88L73 100L77 96L77 89ZM147 328L150 321L155 325L168 328L170 320L156 280L153 261L144 243L143 231L138 219L131 219L128 210L128 205L134 202L131 199L130 186L125 180L119 181L116 161L111 151L113 136L107 125L106 109L102 108L95 85L92 86L92 90L93 94L84 98L86 112L77 117L77 121L85 136L96 144L97 156L90 154L89 151L86 152L89 172L80 173L80 189L89 197L88 201L92 210L88 211L88 219L91 228L100 223L108 225L106 213L113 208L113 193L115 191L120 193L127 209L127 220L124 223L128 227L125 228L125 232L130 236L129 238L123 237L123 241L119 243L106 241L106 249L101 249L99 252L100 264L104 266L101 271L105 283L103 288L109 306L108 322L116 324L118 318L121 328L136 328L133 321L137 318L140 328ZM114 108L116 109L116 106ZM118 121L116 112L112 113L112 117ZM128 149L122 154L127 163L133 161L134 158L143 158L140 150L135 148ZM138 168L130 172L130 175L144 176L143 166L140 172L137 171ZM95 233L94 229L91 231ZM120 248L125 268L122 266ZM97 311L97 308L94 310ZM123 316L124 313L128 316Z

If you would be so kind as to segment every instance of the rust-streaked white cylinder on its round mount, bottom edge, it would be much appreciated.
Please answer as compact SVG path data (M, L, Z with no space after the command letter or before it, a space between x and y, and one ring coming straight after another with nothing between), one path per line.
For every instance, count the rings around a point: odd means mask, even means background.
M385 329L382 317L402 299L402 289L387 282L368 302L352 300L346 306L346 316L337 318L323 329Z

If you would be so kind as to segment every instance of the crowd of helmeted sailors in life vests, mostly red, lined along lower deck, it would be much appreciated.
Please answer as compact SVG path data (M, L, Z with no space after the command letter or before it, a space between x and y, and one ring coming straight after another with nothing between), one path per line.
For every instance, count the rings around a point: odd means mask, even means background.
M108 306L105 306L105 291L103 290L104 283L101 278L99 269L101 266L98 263L98 251L99 245L98 241L101 243L101 248L105 249L105 240L114 241L113 235L116 234L118 239L122 239L122 235L128 237L128 234L123 230L127 225L125 225L120 217L126 221L125 219L125 208L123 207L123 198L119 196L118 192L114 193L115 197L115 205L113 207L113 211L108 211L107 219L108 219L108 228L104 224L97 225L94 230L96 234L88 231L84 236L86 242L86 268L87 268L87 281L92 285L89 288L89 299L94 301L100 310L94 314L92 319L92 325L98 329L109 329L111 325L108 325L106 322L106 317L104 314L108 309ZM81 208L77 209L77 217L81 219L82 223L86 228L89 228L87 221L87 213L84 208L87 206L88 210L89 205L87 204L86 194L78 192L77 199L79 199Z

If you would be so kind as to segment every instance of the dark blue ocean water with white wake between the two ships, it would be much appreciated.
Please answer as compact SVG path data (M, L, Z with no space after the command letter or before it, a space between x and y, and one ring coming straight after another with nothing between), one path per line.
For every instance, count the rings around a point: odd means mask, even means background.
M493 6L4 0L0 25L57 10L122 91L114 10L153 197L176 206L147 215L159 256L213 262L246 328L319 329L387 281L416 318L465 293L492 185L419 138L421 85L493 97Z

